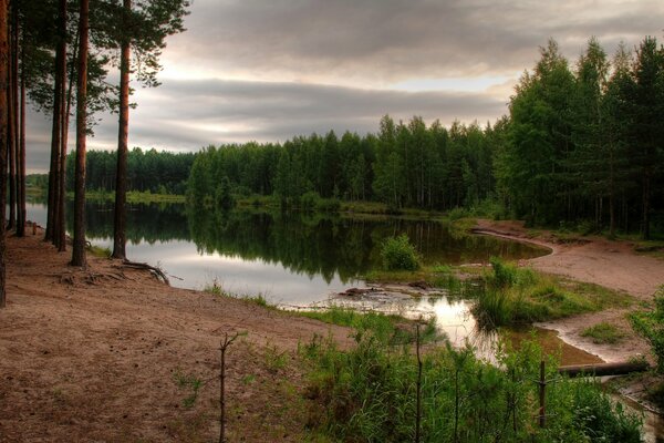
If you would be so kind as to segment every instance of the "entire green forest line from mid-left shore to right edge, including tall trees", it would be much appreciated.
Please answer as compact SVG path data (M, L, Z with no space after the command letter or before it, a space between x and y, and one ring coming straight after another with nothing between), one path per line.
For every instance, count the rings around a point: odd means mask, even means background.
M537 225L584 224L615 234L664 229L664 49L645 38L609 60L595 39L573 66L554 41L526 72L509 115L449 128L384 116L377 134L298 136L283 144L208 146L194 162L193 202L274 195L398 209L499 203Z

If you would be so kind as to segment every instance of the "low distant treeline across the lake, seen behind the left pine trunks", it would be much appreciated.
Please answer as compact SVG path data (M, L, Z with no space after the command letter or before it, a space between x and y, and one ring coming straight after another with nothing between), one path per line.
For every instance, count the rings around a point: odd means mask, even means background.
M134 147L127 153L127 190L149 190L153 194L179 194L186 192L194 153L143 151ZM68 156L68 190L74 185L74 154ZM116 185L117 152L89 151L86 155L85 188L113 192Z

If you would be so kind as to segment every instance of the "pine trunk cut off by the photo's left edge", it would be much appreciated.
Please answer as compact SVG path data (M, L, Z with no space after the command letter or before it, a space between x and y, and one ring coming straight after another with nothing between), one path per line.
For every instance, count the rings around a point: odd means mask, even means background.
M7 94L9 85L9 42L7 41L7 0L0 0L0 308L6 305L6 234L4 216L7 204L7 145L8 145L8 106Z

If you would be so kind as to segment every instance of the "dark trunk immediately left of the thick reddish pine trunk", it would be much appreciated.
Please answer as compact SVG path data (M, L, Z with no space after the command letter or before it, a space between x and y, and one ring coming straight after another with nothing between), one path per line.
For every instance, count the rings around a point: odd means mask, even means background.
M66 0L60 0L60 32L62 32L62 39L58 43L58 52L62 55L63 62L58 66L60 71L58 72L58 76L60 78L60 109L58 113L60 114L60 154L59 161L60 165L58 167L59 176L58 183L55 186L58 187L56 192L56 200L55 200L55 229L53 231L53 243L58 246L58 250L60 253L64 253L66 250L66 217L65 217L65 200L66 200L66 144L68 144L68 133L69 133L69 106L71 99L66 97L65 101L65 90L66 90ZM75 60L75 58L74 58ZM72 64L73 65L73 64Z

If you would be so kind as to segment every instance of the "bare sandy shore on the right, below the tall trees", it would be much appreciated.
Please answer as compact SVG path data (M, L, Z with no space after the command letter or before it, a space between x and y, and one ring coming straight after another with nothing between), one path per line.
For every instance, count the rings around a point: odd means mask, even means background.
M550 233L529 238L523 226L516 222L478 220L477 228L488 235L550 248L551 254L521 262L542 272L624 291L642 301L652 301L657 288L664 285L664 260L636 255L632 245L625 241L583 237L577 243L559 243ZM627 312L610 309L538 326L558 331L566 342L605 361L624 361L635 354L649 353L647 343L633 333L626 319ZM581 337L585 328L602 321L618 326L630 337L619 344L595 344L591 339Z

